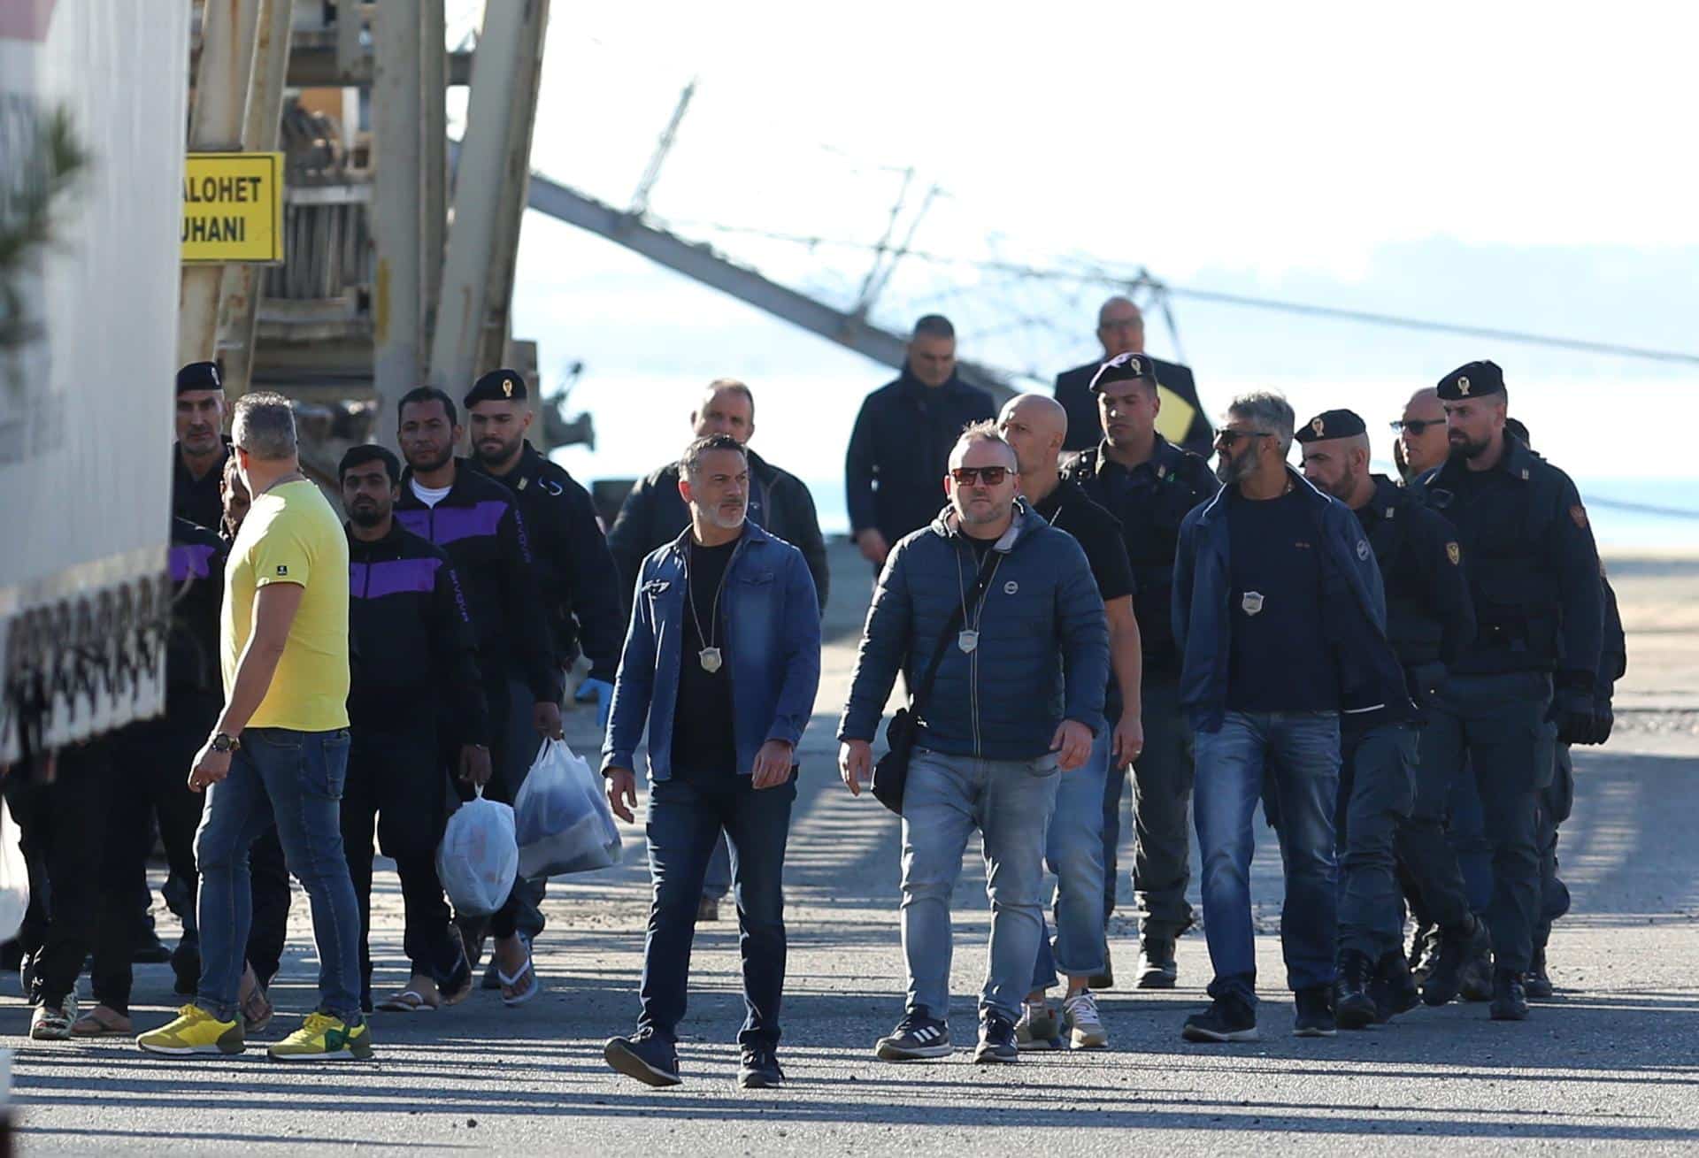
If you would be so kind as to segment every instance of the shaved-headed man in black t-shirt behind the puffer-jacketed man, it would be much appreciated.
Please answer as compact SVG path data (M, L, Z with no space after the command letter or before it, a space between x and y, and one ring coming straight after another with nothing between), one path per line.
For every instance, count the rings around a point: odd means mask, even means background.
M1067 438L1067 411L1055 399L1023 394L1011 399L997 418L997 430L1014 448L1021 467L1021 494L1052 526L1067 531L1086 552L1103 610L1109 621L1109 686L1104 720L1116 722L1113 735L1098 732L1091 759L1062 779L1057 808L1045 839L1045 859L1057 874L1057 939L1038 944L1038 970L1016 1027L1021 1048L1040 1049L1058 1041L1058 1026L1045 990L1067 975L1064 1019L1075 1049L1106 1046L1108 1032L1098 1015L1091 978L1108 964L1103 890L1103 793L1109 764L1125 769L1145 745L1138 722L1140 640L1133 618L1133 567L1121 542L1121 525L1086 497L1077 482L1057 474Z

